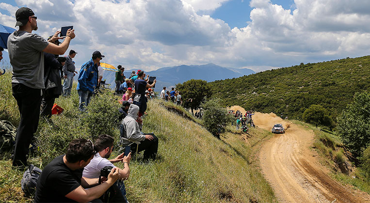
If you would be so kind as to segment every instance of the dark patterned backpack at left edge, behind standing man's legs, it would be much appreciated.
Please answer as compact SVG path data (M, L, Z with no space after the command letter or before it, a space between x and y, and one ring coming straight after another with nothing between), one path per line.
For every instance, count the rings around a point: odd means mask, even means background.
M11 151L16 141L16 127L9 121L0 121L0 153Z

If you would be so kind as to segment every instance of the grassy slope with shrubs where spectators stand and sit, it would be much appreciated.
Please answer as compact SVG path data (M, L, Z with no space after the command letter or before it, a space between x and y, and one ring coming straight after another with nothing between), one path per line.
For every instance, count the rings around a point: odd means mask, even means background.
M10 76L1 76L0 84L0 119L17 125L19 114L11 95ZM89 114L80 115L78 97L73 92L69 98L57 99L65 111L52 117L53 124L40 123L35 136L39 151L28 160L30 163L43 168L52 158L63 154L66 144L77 137L94 138L97 132L109 132L118 138L117 125L97 121L100 117L115 116L117 98L111 94L96 97L89 106ZM266 132L253 129L253 137L245 141L241 139L243 135L233 134L230 128L218 140L196 123L199 120L194 122L170 112L161 101L150 101L147 112L143 131L158 136L158 159L142 163L139 156L132 160L131 174L125 183L129 202L276 202L253 158L257 150L253 146L268 136ZM96 127L104 126L101 125L104 122L109 127ZM29 202L20 189L23 172L10 166L9 156L2 156L0 199Z

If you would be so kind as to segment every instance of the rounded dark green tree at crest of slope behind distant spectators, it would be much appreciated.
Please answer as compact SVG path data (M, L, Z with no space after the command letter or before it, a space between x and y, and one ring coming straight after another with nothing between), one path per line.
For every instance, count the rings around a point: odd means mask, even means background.
M200 106L206 97L209 98L211 96L211 88L206 80L191 79L182 84L177 84L176 89L181 93L184 101L189 98L193 99L189 107L186 107L192 109L192 112L193 109Z

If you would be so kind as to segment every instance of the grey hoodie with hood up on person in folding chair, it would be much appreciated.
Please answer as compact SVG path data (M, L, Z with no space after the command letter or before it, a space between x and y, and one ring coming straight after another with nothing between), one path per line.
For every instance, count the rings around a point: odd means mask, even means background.
M129 145L132 141L145 141L145 135L141 134L142 128L136 121L138 112L139 107L131 104L127 116L122 121L122 124L126 129L124 130L123 137L130 140L124 141L124 145Z

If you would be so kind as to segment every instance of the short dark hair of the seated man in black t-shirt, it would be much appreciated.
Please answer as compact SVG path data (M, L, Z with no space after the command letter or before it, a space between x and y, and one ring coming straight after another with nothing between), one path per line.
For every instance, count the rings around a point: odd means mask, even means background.
M93 142L80 138L69 143L65 158L69 163L76 163L80 160L89 160L95 153Z

